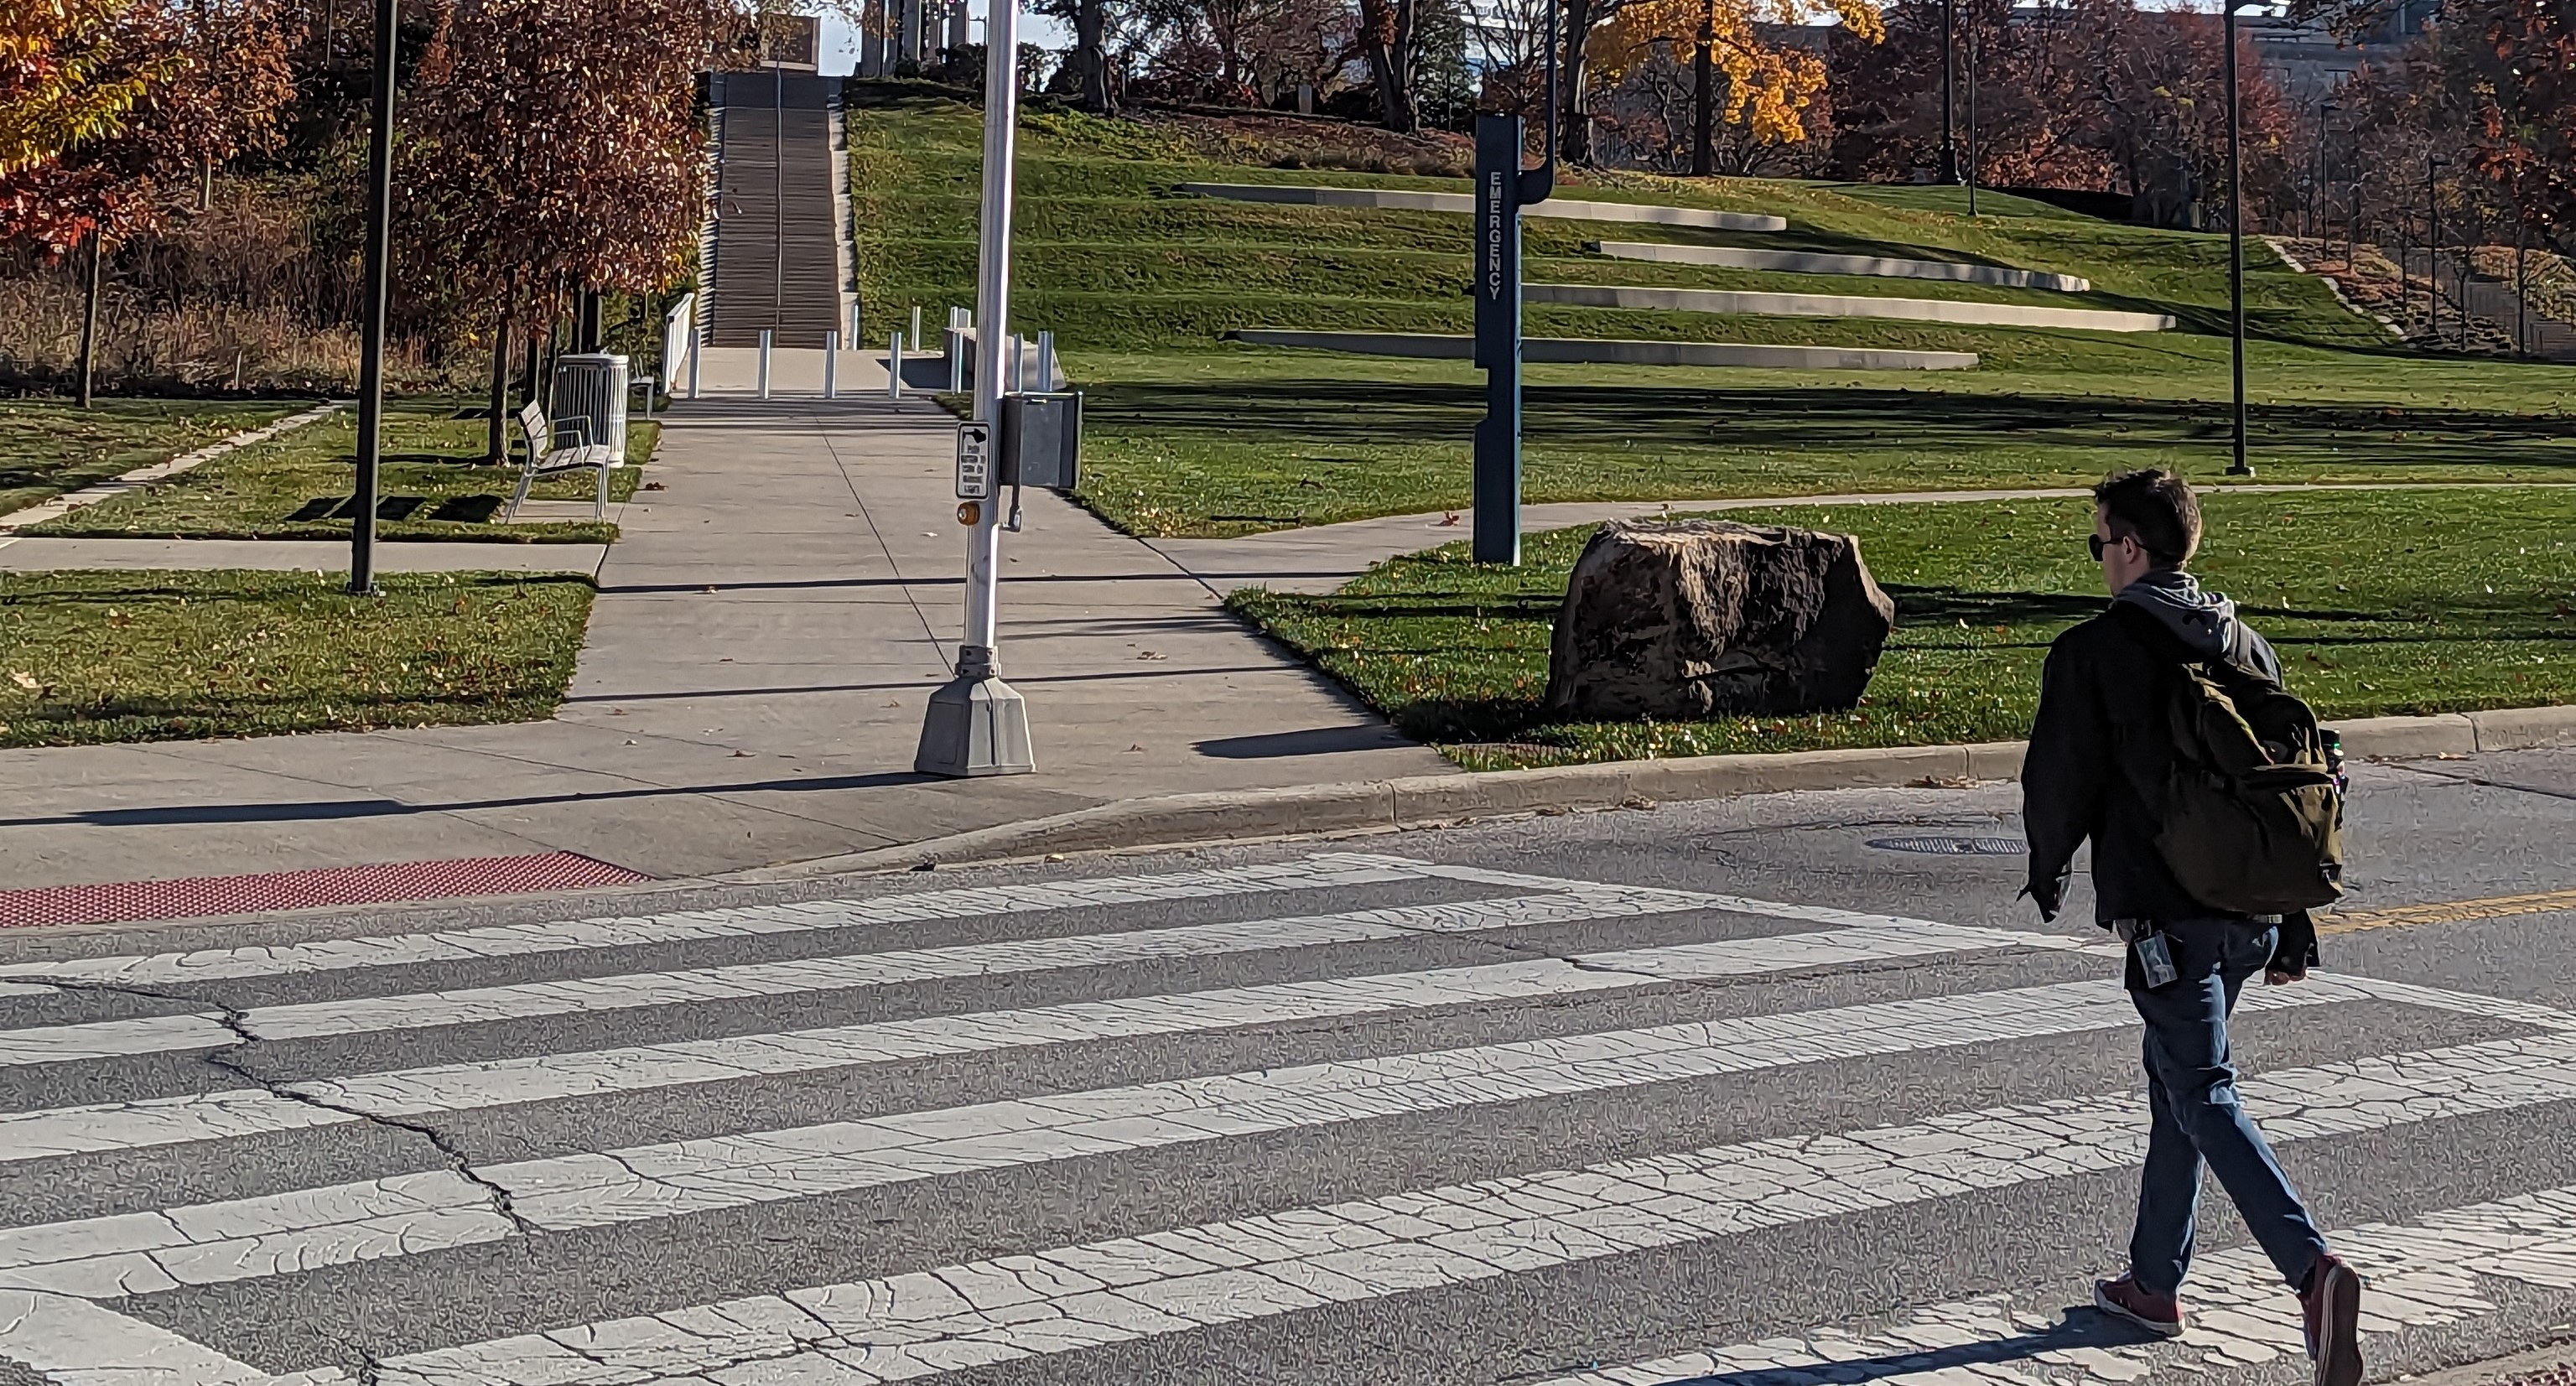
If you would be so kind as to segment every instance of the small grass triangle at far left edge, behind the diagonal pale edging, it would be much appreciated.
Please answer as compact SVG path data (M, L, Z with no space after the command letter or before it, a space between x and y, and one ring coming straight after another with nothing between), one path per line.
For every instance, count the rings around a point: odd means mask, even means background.
M0 515L155 466L301 404L265 399L0 399Z

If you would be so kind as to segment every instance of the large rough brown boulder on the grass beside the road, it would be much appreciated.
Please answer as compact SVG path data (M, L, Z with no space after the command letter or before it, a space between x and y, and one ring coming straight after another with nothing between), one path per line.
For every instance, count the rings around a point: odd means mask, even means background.
M1613 520L1566 582L1548 711L1680 721L1847 708L1893 623L1852 536Z

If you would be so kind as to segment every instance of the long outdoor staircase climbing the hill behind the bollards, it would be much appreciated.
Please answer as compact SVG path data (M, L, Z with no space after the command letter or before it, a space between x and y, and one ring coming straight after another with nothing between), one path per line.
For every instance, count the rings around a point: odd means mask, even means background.
M719 72L706 345L822 348L848 332L832 129L840 77ZM855 343L848 343L855 345Z

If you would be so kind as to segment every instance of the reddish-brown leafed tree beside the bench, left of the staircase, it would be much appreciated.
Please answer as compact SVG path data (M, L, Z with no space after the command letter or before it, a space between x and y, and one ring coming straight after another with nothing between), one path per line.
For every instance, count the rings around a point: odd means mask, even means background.
M515 322L688 273L706 214L696 77L744 23L729 0L459 0L433 36L397 227L415 312L492 325L495 456Z

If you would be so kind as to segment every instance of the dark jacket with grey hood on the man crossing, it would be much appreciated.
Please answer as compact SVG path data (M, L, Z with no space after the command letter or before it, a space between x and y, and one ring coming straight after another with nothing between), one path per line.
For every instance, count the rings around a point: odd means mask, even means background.
M2202 654L2226 654L2280 678L2272 647L2236 621L2226 598L2202 593L2182 572L2148 574L2115 605L2161 618ZM2151 649L2130 621L2136 616L2105 611L2048 647L2040 714L2022 763L2030 891L2053 909L2076 848L2092 837L2097 922L2226 917L2226 909L2192 899L2156 853L2174 745L2166 680L2179 660L2172 647Z

